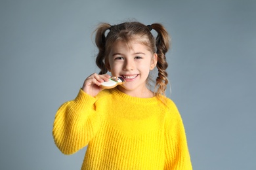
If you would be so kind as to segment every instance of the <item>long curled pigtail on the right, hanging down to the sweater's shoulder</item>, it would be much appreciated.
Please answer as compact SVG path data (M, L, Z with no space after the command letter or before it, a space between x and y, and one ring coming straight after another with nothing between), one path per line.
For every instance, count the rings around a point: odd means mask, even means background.
M165 54L169 50L171 39L166 31L166 29L161 24L152 24L152 29L154 29L158 35L156 37L156 53L158 54L158 63L156 67L158 68L158 77L156 78L156 88L157 94L165 95L165 90L168 84L168 74L167 67L168 63L166 61Z

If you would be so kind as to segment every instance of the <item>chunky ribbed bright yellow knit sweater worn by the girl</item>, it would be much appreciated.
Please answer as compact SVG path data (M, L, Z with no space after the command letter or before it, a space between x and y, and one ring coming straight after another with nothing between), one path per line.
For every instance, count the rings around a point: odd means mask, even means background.
M64 154L87 146L81 169L192 169L177 107L117 88L91 97L80 90L56 112L53 137Z

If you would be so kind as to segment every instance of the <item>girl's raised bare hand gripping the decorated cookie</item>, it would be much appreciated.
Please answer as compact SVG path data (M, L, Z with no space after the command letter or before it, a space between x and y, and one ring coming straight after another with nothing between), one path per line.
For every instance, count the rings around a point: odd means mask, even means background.
M103 88L100 88L102 82L107 82L111 76L110 75L98 75L94 73L88 76L83 82L82 90L83 92L95 97Z

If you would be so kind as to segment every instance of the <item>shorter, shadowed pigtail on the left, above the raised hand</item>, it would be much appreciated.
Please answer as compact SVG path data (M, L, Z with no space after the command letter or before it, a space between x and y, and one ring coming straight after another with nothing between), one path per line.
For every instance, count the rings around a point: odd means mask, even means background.
M106 57L106 31L110 29L111 25L102 23L98 25L97 29L95 30L95 43L98 47L98 55L96 56L96 65L100 69L99 75L103 75L108 72L108 68L105 63Z

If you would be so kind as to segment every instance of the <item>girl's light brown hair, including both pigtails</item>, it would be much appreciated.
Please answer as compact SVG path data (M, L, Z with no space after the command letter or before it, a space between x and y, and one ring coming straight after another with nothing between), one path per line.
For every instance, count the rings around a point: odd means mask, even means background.
M152 35L151 29L158 33L156 38ZM169 82L167 79L166 69L168 64L165 54L169 50L171 39L163 25L158 23L144 25L140 22L124 22L118 25L102 23L98 25L95 32L95 43L98 47L96 65L100 69L100 75L108 72L108 55L115 42L121 40L129 46L131 42L136 41L146 45L152 54L158 54L158 63L156 65L158 76L155 80L155 93L158 96L165 95Z

